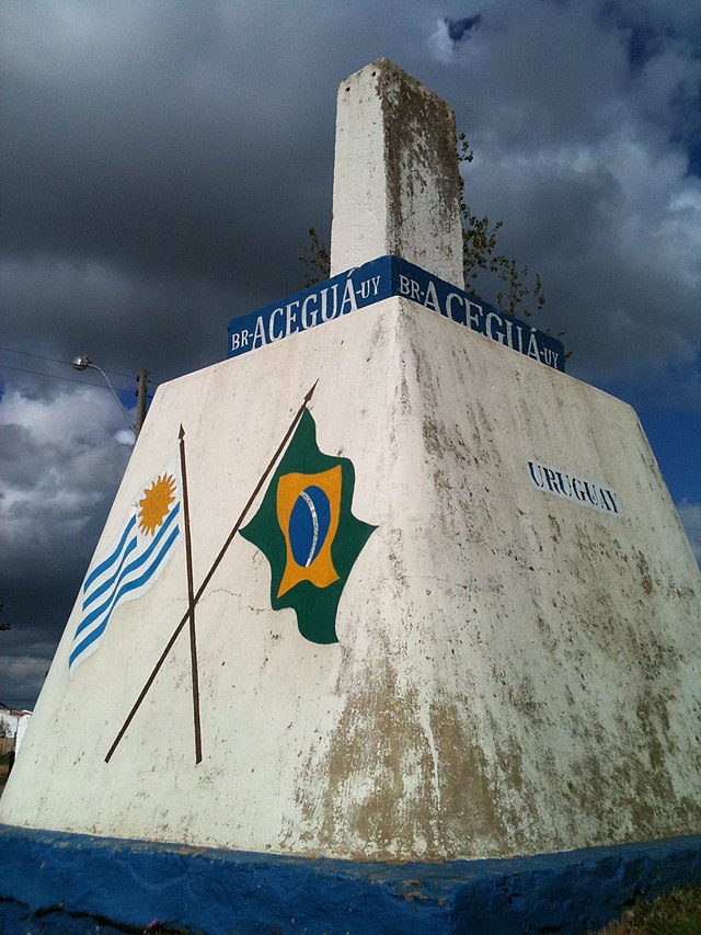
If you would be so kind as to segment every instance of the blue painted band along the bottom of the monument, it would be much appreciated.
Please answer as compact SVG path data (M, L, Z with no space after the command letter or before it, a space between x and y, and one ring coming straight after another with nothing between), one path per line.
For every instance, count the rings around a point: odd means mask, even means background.
M701 885L701 836L512 859L361 863L0 825L4 935L596 931L639 897Z

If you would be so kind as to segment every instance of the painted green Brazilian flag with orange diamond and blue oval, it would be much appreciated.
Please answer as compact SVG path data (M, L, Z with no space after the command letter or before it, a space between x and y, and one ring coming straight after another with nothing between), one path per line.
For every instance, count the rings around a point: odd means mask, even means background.
M261 508L241 535L271 563L274 611L291 607L301 635L337 642L336 611L350 570L376 526L350 512L355 469L322 454L304 409Z

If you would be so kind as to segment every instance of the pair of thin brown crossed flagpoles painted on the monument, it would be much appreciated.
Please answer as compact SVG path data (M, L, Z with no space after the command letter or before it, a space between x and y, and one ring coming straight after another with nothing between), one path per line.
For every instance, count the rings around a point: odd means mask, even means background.
M181 475L182 475L182 482L183 482L183 512L184 512L184 524L185 524L185 555L186 555L186 565L187 565L187 611L183 614L183 617L180 620L180 623L177 624L177 626L175 627L175 629L173 630L171 638L165 643L165 648L163 649L163 652L160 654L156 665L153 666L151 674L146 680L146 683L145 683L143 687L141 688L141 692L139 693L138 698L134 703L131 710L127 715L126 720L124 721L124 723L119 728L119 732L117 733L116 738L114 739L112 746L107 751L107 754L105 756L105 763L108 763L112 760L112 755L114 754L115 750L119 745L122 738L124 737L124 734L129 729L129 725L134 720L137 711L139 710L140 706L141 706L141 703L143 702L147 694L149 693L151 685L153 684L153 682L156 682L156 677L157 677L158 673L160 672L165 660L168 659L170 651L175 643L175 640L177 639L177 637L180 636L181 631L184 629L186 624L189 624L189 652L191 652L191 663L192 663L192 673L193 673L193 711L194 711L194 721L195 721L195 763L199 763L202 761L202 730L200 730L200 722L199 722L199 679L198 679L198 673L197 673L197 643L196 643L196 637L195 637L195 606L196 606L197 602L199 601L199 598L202 597L202 595L204 594L205 589L207 588L207 585L211 581L215 571L217 570L217 568L219 568L221 560L223 559L225 555L227 554L229 546L233 541L235 534L241 528L241 524L245 520L245 517L249 513L249 510L251 509L251 506L253 505L253 502L255 501L255 498L261 492L261 488L263 487L263 484L267 480L271 471L273 470L273 468L277 464L280 455L283 454L283 452L285 449L285 446L289 442L295 429L297 427L299 420L302 418L302 413L303 413L304 409L307 408L307 406L309 404L309 401L313 396L314 389L317 388L317 383L319 383L319 380L317 380L314 383L314 385L311 387L311 389L307 392L307 396L302 400L301 406L299 407L299 409L295 413L295 418L290 422L289 427L283 437L283 441L277 446L275 454L273 455L273 457L268 461L267 467L265 468L265 470L261 475L257 483L255 484L255 488L253 489L253 492L251 493L251 497L249 498L248 503L245 504L245 506L241 511L241 515L239 516L237 522L233 524L233 527L232 527L231 532L229 533L229 535L227 536L225 544L222 545L221 549L219 550L219 554L217 555L216 559L211 563L209 571L207 572L207 574L203 579L203 582L196 592L194 589L194 581L193 581L192 543L191 543L191 535L189 535L189 506L188 506L188 500L187 500L187 478L186 478L186 472L185 472L185 432L183 430L183 426L182 425L180 426L179 438L180 438Z

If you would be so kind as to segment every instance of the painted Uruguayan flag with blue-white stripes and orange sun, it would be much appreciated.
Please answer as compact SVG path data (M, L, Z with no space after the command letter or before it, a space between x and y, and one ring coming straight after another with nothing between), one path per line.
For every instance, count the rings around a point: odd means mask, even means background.
M175 552L181 535L177 463L150 478L135 498L118 539L91 565L70 650L71 675L97 649L115 608L145 594Z

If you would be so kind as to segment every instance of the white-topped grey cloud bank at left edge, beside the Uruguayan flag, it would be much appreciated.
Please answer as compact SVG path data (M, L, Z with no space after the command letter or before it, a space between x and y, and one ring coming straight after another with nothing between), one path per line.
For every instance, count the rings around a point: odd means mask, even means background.
M119 412L99 388L5 391L0 406L0 697L31 706L126 466ZM123 434L123 433L122 433Z

